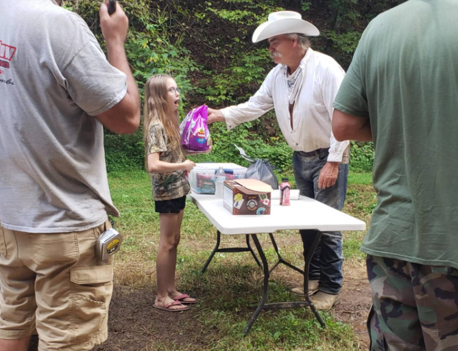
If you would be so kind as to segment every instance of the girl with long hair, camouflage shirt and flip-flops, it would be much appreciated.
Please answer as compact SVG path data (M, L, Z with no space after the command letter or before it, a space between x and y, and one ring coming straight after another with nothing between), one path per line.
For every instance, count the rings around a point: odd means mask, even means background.
M168 75L154 75L145 86L145 152L151 173L156 212L159 213L160 240L156 260L158 294L154 307L184 311L197 302L175 287L177 246L186 194L190 186L186 172L195 164L184 156L180 143L178 103L180 90Z

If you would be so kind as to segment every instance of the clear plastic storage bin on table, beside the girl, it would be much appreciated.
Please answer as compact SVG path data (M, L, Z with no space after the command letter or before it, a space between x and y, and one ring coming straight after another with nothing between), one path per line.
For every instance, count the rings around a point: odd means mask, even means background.
M219 167L224 169L226 179L245 178L247 168L237 164L195 164L188 177L193 192L197 194L215 194L215 174Z

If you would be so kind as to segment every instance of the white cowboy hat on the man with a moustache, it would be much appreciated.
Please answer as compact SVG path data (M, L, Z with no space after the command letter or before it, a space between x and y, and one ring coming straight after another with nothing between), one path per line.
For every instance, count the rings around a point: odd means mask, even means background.
M269 14L267 22L256 28L253 42L279 36L280 34L300 33L306 36L319 36L320 31L311 23L304 21L298 12L279 11Z

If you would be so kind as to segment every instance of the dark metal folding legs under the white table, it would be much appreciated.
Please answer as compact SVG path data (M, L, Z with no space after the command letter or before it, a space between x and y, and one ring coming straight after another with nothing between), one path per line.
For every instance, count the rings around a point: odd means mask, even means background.
M261 267L261 263L259 262L258 257L256 257L254 250L250 244L250 235L252 236L254 246L256 246L256 250L258 251L259 257L261 257L261 262L263 263L262 268L264 272L264 279L263 279L264 290L263 290L263 298L261 302L259 302L258 307L256 308L256 311L254 311L252 317L248 321L248 324L245 330L243 331L243 335L248 334L254 322L256 321L256 318L258 317L259 313L261 313L262 310L267 310L267 309L298 309L302 307L310 307L313 314L317 318L318 322L320 322L321 326L325 328L326 324L324 324L324 321L320 313L318 313L317 309L315 308L315 305L313 304L309 296L309 267L310 267L311 259L313 257L313 253L315 252L315 249L317 248L318 243L320 242L320 239L322 237L321 231L317 231L317 236L315 237L315 240L313 241L313 244L311 245L309 249L309 254L307 255L305 259L305 263L304 263L304 270L300 270L295 265L292 265L291 263L285 261L281 257L280 252L278 252L278 246L275 242L273 233L269 233L269 237L270 237L270 241L272 242L272 245L274 246L275 252L278 257L278 261L274 264L274 267L272 267L269 270L269 264L267 263L267 259L265 258L263 247L261 246L261 243L259 242L258 234L245 234L246 244L247 244L247 247L245 248L219 248L219 244L221 243L221 233L217 231L216 246L213 249L213 251L211 252L210 257L208 257L207 261L205 262L204 267L202 268L200 273L203 274L206 271L206 269L208 268L208 265L212 261L216 252L251 252L256 263ZM304 301L266 303L267 296L269 294L269 276L272 273L272 271L275 270L275 268L277 268L278 265L280 265L280 263L287 265L289 268L296 270L296 272L299 272L300 274L302 274L302 276L304 276L304 294L305 294Z

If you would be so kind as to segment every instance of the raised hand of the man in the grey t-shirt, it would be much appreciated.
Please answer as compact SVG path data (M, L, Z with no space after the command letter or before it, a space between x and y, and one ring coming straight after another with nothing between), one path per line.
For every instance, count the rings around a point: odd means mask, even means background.
M125 16L121 5L116 3L116 11L110 16L108 1L101 3L99 16L101 33L104 34L106 44L124 44L128 36L129 19Z

